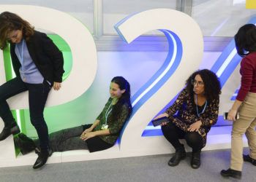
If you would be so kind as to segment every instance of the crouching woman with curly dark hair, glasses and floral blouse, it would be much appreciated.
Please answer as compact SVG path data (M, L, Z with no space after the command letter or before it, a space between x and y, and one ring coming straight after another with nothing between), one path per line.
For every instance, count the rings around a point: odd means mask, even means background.
M170 121L162 124L162 133L176 149L168 165L176 166L186 157L184 145L178 140L182 138L192 148L191 167L200 167L201 149L206 146L207 133L218 119L220 89L216 74L207 69L195 71L173 105L155 118L166 116Z

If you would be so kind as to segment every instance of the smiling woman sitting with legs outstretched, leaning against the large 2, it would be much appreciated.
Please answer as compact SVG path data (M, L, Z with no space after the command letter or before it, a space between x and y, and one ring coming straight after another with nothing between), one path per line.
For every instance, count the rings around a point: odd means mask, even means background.
M72 127L49 135L51 154L54 151L88 149L90 152L112 147L119 132L132 112L129 82L122 76L116 76L110 83L110 98L94 124ZM36 149L37 140L33 141L23 133L15 138L15 145L22 154Z

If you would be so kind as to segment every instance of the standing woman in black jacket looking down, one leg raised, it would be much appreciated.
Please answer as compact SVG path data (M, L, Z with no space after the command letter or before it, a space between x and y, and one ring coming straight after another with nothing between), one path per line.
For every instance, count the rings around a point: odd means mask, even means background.
M12 12L0 14L0 48L4 50L10 43L12 66L17 77L0 86L0 116L4 130L0 134L3 141L20 129L12 116L7 98L29 90L29 111L31 124L39 137L40 153L33 168L45 164L49 155L48 127L43 111L48 93L61 88L63 56L45 33L34 31L26 20Z

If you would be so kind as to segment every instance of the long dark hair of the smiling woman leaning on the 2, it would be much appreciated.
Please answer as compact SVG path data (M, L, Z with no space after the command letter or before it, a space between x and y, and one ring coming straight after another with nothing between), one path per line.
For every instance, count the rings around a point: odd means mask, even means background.
M113 106L112 118L115 121L118 118L118 114L120 114L121 106L124 104L127 105L129 109L129 115L132 113L132 104L131 104L131 90L129 87L129 82L122 76L113 77L111 82L118 84L120 90L125 90L125 92L121 95L121 98L118 99L118 102ZM129 116L128 116L129 117Z

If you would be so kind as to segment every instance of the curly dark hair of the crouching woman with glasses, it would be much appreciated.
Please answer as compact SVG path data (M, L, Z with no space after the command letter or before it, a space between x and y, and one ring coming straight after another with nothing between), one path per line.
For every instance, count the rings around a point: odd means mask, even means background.
M211 101L219 98L219 94L221 94L219 79L216 74L214 74L214 72L208 69L195 71L191 76L189 76L189 79L186 81L188 92L191 94L194 93L194 85L192 84L192 79L195 79L197 74L199 74L203 79L204 95L206 96L206 99Z

